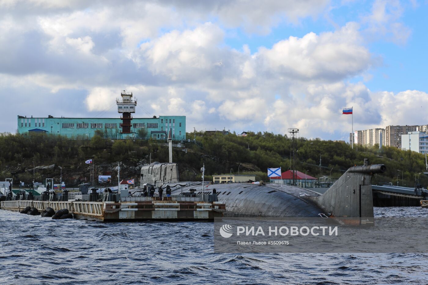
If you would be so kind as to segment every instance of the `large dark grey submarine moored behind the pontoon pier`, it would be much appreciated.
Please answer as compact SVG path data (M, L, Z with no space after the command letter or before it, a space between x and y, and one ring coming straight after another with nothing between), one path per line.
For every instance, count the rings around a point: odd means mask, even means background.
M385 170L385 165L369 165L365 159L363 166L350 167L321 195L277 183L179 181L177 163L153 162L141 167L140 187L133 195L141 195L144 185L163 189L169 185L172 195L203 194L223 202L224 217L373 217L372 176Z

